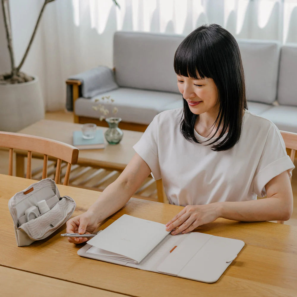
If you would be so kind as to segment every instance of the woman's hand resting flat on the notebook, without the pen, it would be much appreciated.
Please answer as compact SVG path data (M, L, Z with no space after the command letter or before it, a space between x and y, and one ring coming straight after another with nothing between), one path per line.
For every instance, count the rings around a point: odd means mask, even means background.
M166 230L171 234L188 233L198 226L215 221L219 217L217 203L206 205L187 205L172 220L166 224Z

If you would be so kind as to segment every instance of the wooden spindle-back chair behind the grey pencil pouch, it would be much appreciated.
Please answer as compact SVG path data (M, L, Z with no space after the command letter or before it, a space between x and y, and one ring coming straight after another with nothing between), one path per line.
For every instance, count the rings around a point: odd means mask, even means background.
M9 148L8 175L12 175L12 157L14 149L28 151L26 178L32 177L32 152L43 154L42 178L48 176L48 156L57 158L56 184L60 182L62 160L68 163L64 185L68 185L69 183L71 165L76 164L78 160L78 149L76 147L60 141L33 135L0 131L0 147Z

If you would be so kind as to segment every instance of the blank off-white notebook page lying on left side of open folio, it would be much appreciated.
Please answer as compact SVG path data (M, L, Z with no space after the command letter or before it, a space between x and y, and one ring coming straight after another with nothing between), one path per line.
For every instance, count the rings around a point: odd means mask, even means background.
M88 244L139 263L168 234L164 224L124 214Z

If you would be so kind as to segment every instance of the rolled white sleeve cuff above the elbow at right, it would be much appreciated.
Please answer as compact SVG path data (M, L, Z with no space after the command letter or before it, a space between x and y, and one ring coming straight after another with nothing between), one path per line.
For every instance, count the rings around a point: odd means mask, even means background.
M259 197L266 195L265 185L272 178L278 176L284 171L288 171L289 177L292 176L292 170L295 168L289 156L284 156L263 168L254 179L254 192Z

